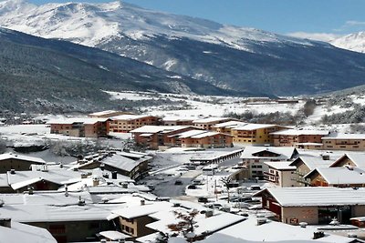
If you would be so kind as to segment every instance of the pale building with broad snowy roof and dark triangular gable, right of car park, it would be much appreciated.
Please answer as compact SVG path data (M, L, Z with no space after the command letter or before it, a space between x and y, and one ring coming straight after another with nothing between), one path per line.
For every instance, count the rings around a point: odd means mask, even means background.
M269 172L265 162L289 161L298 157L295 147L245 147L241 155L243 166L248 170L249 178L264 178Z

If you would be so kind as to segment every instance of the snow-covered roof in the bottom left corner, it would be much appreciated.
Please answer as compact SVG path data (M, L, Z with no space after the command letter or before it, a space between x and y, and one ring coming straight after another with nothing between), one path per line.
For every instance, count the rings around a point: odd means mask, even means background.
M45 228L37 228L26 224L11 221L11 227L0 227L1 242L39 242L57 243L57 240Z

